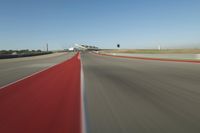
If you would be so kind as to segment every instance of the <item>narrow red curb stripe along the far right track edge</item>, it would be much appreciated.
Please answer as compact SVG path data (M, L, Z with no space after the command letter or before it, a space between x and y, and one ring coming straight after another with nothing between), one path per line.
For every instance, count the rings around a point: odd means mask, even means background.
M96 53L94 53L96 54ZM186 63L200 63L200 61L196 60L178 60L178 59L162 59L162 58L146 58L146 57L135 57L135 56L118 56L118 55L108 55L108 54L97 54L102 56L110 56L110 57L119 57L119 58L129 58L129 59L138 59L138 60L157 60L157 61L170 61L170 62L186 62Z

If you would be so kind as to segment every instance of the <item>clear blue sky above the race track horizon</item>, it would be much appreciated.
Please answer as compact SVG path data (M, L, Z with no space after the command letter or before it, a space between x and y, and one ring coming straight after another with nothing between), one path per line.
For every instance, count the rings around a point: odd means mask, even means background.
M200 0L0 0L0 49L200 47Z

